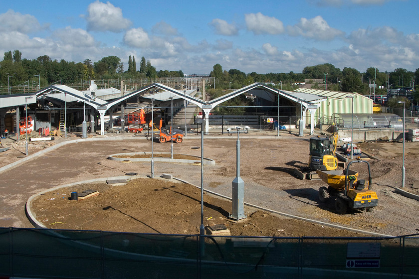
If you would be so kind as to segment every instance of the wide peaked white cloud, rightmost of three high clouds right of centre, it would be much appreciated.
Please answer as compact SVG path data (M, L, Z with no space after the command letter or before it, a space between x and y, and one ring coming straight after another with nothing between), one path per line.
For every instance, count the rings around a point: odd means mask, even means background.
M344 32L332 28L320 15L307 19L302 17L298 24L287 27L291 36L303 36L314 40L330 41L337 36L343 36Z

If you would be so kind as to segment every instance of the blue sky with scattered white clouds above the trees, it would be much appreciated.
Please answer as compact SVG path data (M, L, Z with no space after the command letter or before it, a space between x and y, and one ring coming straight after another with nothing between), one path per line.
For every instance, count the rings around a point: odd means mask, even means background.
M0 53L53 60L134 56L156 70L301 73L419 68L419 0L0 0ZM0 55L0 60L2 56Z

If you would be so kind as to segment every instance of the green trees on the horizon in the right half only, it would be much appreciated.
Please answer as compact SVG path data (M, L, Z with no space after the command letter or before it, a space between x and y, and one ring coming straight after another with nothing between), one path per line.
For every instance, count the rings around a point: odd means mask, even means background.
M364 73L361 73L357 69L349 67L340 70L329 63L307 66L301 73L291 71L289 73L268 74L258 74L256 72L245 74L237 69L223 71L220 64L215 64L210 73L210 77L215 79L215 88L239 89L244 85L262 82L275 84L276 88L282 86L284 90L292 90L299 87L294 83L307 80L308 83L313 84L312 88L325 89L324 82L327 80L328 90L357 92L367 95L374 84L376 85L375 93L379 95L386 95L387 88L412 87L413 82L416 85L418 76L419 68L415 72L402 68L395 69L392 72L380 72L379 69L370 67ZM316 80L323 80L323 83L318 83Z

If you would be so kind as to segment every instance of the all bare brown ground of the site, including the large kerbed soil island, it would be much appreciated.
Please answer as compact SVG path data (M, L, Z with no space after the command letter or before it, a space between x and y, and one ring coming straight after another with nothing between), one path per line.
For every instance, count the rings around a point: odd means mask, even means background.
M247 137L246 137L247 136ZM277 212L309 218L335 225L386 235L407 235L419 229L419 202L395 192L401 185L402 143L379 142L359 144L374 154L370 160L373 189L379 196L374 211L335 213L333 202L321 203L317 191L324 182L297 179L292 173L308 163L308 141L286 135L280 139L251 139L251 133L241 141L240 177L245 184L246 203ZM56 142L59 142L57 140ZM24 144L24 143L23 143ZM50 143L29 144L29 153L46 148ZM23 151L24 151L24 145ZM0 166L17 160L22 146L0 153ZM200 138L187 137L175 144L175 152L200 155ZM155 152L170 152L170 143L154 144ZM31 195L57 185L92 178L137 172L150 175L150 162L123 163L108 160L111 154L150 152L151 142L144 137L123 140L98 140L71 143L28 162L0 173L0 226L29 227L22 209ZM406 190L415 191L418 180L417 142L406 144ZM231 181L236 175L236 140L234 137L204 140L204 156L214 159L214 166L204 166L204 188L231 196ZM354 166L361 175L366 167ZM156 176L170 173L174 177L200 185L201 167L192 164L156 162ZM18 177L15 173L19 173ZM13 185L11 187L10 185ZM96 197L68 200L72 191L95 189ZM52 199L54 198L54 199ZM196 234L201 220L200 189L172 180L134 180L125 186L107 184L82 185L50 192L39 197L34 212L50 228L92 229L111 231L161 232ZM228 219L231 203L210 194L204 197L204 224L224 224L232 235L269 236L354 236L361 235L327 226L315 225L263 210L245 207L247 218L234 223ZM23 213L23 214L22 214ZM23 216L22 216L23 215Z

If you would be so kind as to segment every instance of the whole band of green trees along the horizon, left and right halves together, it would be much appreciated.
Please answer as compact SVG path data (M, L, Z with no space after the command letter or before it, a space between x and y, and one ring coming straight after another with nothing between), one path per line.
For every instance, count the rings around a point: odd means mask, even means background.
M327 75L326 75L327 73ZM39 76L38 76L39 75ZM371 86L376 84L375 93L385 95L387 88L412 87L416 84L419 76L419 68L415 72L398 68L392 72L380 72L379 69L370 67L361 73L357 69L345 67L343 70L334 65L325 63L305 67L301 73L267 73L256 72L244 73L238 69L222 70L220 64L215 64L210 77L213 78L209 88L239 89L254 82L267 83L269 86L284 90L293 90L295 83L308 80L313 83L312 88L324 89L325 84L317 80L327 80L327 89L345 92L358 92L369 94ZM156 79L162 77L184 77L182 70L169 71L159 70L146 60L143 56L139 69L134 56L128 57L128 69L117 56L103 57L97 62L86 59L83 62L68 62L64 59L52 60L49 56L43 55L36 59L22 58L19 50L7 51L3 60L0 61L0 86L16 86L26 82L37 85L38 78L40 87L48 84L71 84L83 83L91 79ZM275 85L273 85L275 84ZM382 89L380 89L382 87Z

